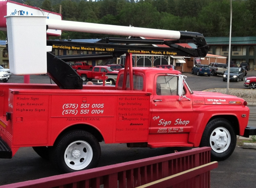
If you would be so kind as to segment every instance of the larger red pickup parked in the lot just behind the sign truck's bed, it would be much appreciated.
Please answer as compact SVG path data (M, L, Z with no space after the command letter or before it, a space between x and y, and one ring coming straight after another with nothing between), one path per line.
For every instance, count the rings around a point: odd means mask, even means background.
M77 70L82 80L92 80L96 76L102 76L103 73L118 75L117 70L112 70L109 66L94 66L91 70Z

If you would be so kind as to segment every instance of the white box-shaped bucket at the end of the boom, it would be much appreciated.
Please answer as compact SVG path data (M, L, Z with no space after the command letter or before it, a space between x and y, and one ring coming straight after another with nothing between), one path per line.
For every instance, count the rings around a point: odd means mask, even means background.
M46 74L46 16L6 16L10 72Z

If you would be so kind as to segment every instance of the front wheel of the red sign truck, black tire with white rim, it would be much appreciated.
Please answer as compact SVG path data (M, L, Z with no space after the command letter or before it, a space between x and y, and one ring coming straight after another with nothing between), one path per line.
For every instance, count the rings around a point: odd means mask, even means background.
M203 132L200 147L211 147L211 160L227 159L235 150L236 135L231 123L224 118L211 120Z

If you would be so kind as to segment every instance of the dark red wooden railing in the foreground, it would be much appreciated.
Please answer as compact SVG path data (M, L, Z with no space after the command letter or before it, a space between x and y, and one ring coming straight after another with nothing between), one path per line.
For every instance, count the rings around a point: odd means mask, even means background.
M210 188L210 147L180 151L0 188Z

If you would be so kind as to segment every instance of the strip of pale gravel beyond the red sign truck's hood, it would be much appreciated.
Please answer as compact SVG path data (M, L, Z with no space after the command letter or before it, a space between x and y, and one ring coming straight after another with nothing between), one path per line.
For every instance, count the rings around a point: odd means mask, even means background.
M205 91L227 94L227 89L214 88ZM250 89L229 89L229 94L243 98L247 102L256 102L256 90Z

